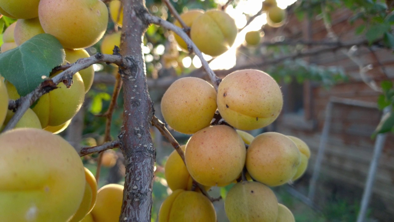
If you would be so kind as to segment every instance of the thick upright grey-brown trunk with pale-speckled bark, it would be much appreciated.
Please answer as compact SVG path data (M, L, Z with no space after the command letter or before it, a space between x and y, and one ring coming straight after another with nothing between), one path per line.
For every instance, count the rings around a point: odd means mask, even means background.
M119 66L123 79L124 112L119 145L126 162L125 189L119 221L151 221L153 169L156 149L149 131L154 112L149 97L143 34L148 27L144 0L124 0L120 53L128 64Z

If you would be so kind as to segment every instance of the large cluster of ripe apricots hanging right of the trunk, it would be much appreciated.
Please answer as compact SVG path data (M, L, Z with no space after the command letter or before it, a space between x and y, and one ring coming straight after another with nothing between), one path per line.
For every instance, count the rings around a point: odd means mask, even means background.
M282 103L279 85L259 70L230 73L217 92L199 78L175 81L162 98L162 114L171 128L193 135L181 146L185 163L173 151L165 164L165 178L173 193L163 202L159 221L216 221L209 199L191 191L193 180L206 190L236 182L225 199L230 221L294 221L269 186L301 177L307 168L309 147L297 137L277 132L253 137L243 131L271 124ZM212 121L217 111L230 126L211 125L217 123Z

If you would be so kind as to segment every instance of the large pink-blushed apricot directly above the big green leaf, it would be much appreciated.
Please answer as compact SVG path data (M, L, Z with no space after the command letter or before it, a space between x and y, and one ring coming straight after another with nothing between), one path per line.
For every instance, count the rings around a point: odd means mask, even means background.
M67 49L97 43L108 23L108 8L99 0L41 0L38 14L45 32Z

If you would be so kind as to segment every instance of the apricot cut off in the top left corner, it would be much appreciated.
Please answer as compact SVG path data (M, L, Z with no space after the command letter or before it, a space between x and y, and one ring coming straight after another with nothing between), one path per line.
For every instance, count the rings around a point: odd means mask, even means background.
M32 19L38 17L40 0L2 0L0 8L14 19Z

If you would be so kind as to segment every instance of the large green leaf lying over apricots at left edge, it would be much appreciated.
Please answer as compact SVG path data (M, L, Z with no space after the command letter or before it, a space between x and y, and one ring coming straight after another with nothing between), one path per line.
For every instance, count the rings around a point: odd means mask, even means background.
M17 88L20 96L26 96L64 59L59 41L50 34L39 34L0 54L0 75Z

